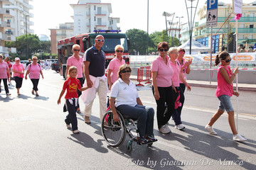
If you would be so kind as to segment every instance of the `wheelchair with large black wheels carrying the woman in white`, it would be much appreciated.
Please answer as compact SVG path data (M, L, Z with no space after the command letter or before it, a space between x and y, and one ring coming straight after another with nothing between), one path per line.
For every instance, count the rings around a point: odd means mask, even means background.
M118 110L117 114L119 116L119 122L114 122L113 113L110 108L102 119L102 136L108 145L112 147L117 147L122 145L125 140L126 134L129 135L129 140L127 142L127 152L132 151L132 142L136 141L139 143L139 131L137 128L137 121L132 118L124 117ZM149 147L153 145L153 142L147 144Z

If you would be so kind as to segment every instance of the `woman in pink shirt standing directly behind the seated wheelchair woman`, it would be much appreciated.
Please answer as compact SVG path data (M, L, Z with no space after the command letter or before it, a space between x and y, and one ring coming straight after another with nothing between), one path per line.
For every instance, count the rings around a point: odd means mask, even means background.
M118 79L117 72L119 71L119 67L122 66L122 64L125 64L125 61L122 59L124 47L122 45L117 45L114 47L114 51L116 57L110 61L110 64L107 67L107 83L109 84L110 90L112 84Z

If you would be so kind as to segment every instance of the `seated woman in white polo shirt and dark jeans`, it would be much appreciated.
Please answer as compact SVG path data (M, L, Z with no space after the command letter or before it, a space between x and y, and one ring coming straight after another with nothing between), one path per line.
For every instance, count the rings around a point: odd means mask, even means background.
M154 109L143 106L135 84L129 79L132 69L127 64L119 67L119 79L114 82L110 93L110 108L114 121L119 121L117 111L137 120L138 142L141 145L156 142L154 138ZM115 102L114 102L115 101Z

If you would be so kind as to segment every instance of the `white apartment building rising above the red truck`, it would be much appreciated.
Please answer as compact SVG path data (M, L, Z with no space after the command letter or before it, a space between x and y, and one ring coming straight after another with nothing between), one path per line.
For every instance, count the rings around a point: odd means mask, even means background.
M74 35L93 30L119 30L119 18L111 16L111 4L101 3L100 0L80 0L70 6L74 9Z

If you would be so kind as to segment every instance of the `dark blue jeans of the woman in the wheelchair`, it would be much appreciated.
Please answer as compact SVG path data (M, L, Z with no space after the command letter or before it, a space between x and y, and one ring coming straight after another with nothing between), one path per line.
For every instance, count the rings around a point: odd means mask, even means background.
M154 109L147 106L117 106L117 110L124 115L124 118L133 118L137 120L139 136L153 135L154 129Z

